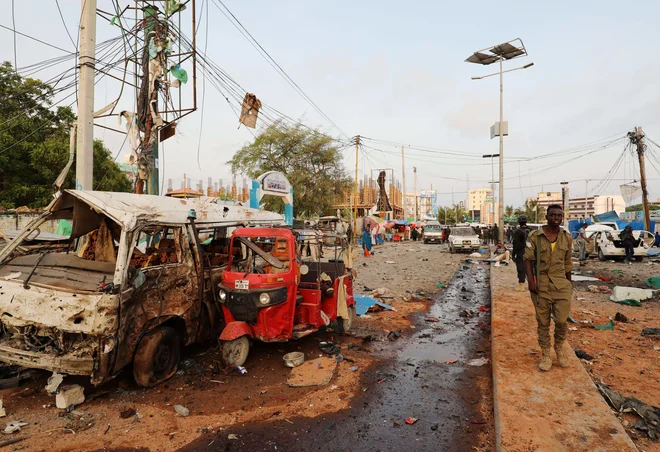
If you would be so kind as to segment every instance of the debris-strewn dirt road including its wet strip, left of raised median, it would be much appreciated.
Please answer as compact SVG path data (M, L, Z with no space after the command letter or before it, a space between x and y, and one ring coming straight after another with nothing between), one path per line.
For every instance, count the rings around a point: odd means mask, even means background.
M465 258L419 242L376 247L374 256L356 261L356 292L387 288L392 298L383 301L396 311L369 313L350 335L328 329L295 342L257 344L247 375L225 373L213 344L191 348L166 384L140 389L127 371L95 391L87 388L87 401L70 413L46 394L48 375L37 375L0 391L4 420L27 423L10 436L25 439L8 450L492 449L490 368L466 365L489 355L489 314L477 310L488 303L487 275L483 266L466 265L452 281ZM438 283L448 282L435 303L420 295L404 301L408 291L433 297L441 292ZM438 321L425 321L428 316ZM400 338L387 340L390 331ZM313 359L322 355L320 341L337 344L347 359L327 386L289 387L282 356L302 351ZM174 405L190 414L177 414ZM408 417L418 420L406 424Z

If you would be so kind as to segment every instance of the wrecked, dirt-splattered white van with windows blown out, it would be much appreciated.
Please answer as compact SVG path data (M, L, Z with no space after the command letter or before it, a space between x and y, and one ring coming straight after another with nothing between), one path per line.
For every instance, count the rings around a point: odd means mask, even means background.
M25 245L54 219L71 221L67 242ZM63 191L0 251L0 361L96 385L132 362L139 385L157 385L182 346L221 327L233 228L282 220L210 198Z

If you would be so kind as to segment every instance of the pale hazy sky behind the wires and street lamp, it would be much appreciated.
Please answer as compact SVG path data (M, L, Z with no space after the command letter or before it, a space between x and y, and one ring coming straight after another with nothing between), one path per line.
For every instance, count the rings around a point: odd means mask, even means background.
M122 8L133 4L118 1ZM504 69L530 62L534 66L504 74L504 120L509 122L505 204L519 206L539 191L560 191L562 181L569 182L570 196L584 196L586 180L590 195L619 194L620 184L639 176L630 152L608 175L626 144L623 139L613 141L643 126L647 136L660 143L660 62L655 58L660 2L637 1L633 7L603 0L502 1L497 6L486 1L224 3L338 128L257 53L214 0L197 0L200 50L247 91L287 116L343 141L355 135L371 139L364 141L369 148L360 151L360 178L373 169L394 168L401 179L400 144L411 146L404 149L407 191L413 190L416 167L418 190L437 190L441 205L464 200L468 188L487 186L491 180L491 162L481 156L498 152L498 139L490 139L490 126L499 120L498 77L471 77L498 68L464 60L476 50L511 39L521 38L529 56L505 62ZM10 0L2 4L5 12L11 11ZM75 41L81 2L59 0L59 5ZM98 0L98 8L113 10L110 0ZM190 12L182 15L183 29ZM55 0L21 0L15 2L14 13L16 30L74 49ZM0 25L11 28L11 14L3 15ZM97 42L117 35L116 27L97 17ZM0 29L0 39L5 44L0 58L13 62L13 33ZM62 55L17 37L19 71ZM33 76L47 80L67 64ZM190 65L184 67L190 74ZM112 79L97 83L95 108L112 102L119 89ZM184 172L193 181L212 177L228 184L226 162L253 139L249 130L238 127L234 110L201 74L197 90L198 111L181 120L177 135L162 149L161 176L173 179L175 189ZM125 90L121 109L132 109L133 93ZM190 85L183 94L191 97ZM119 128L116 118L99 123ZM103 139L113 155L124 141L123 135L100 127L95 137ZM422 146L428 150L416 149ZM660 156L660 149L649 144L652 150ZM342 153L347 171L354 175L355 150ZM660 162L651 156L647 160L654 200L660 197ZM494 170L497 178L497 161ZM601 182L606 176L611 181Z

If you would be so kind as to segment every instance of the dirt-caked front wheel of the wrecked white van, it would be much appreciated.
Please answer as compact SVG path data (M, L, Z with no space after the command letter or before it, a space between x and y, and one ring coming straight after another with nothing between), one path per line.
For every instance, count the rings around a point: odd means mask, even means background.
M181 356L181 342L174 328L158 327L145 334L133 359L133 378L151 388L171 378Z

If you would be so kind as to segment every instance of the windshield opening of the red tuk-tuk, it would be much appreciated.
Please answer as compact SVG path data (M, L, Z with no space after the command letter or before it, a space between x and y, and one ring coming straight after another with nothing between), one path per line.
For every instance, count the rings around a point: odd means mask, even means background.
M284 237L245 237L232 239L230 269L255 274L283 273L290 266L289 244Z

